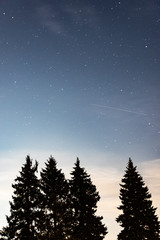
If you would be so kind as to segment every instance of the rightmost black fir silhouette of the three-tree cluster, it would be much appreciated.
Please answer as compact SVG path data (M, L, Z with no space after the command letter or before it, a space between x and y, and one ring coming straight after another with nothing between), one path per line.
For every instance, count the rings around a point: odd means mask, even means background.
M97 202L100 200L95 185L77 159L70 180L72 208L74 212L74 240L102 240L107 234L102 217L96 216Z

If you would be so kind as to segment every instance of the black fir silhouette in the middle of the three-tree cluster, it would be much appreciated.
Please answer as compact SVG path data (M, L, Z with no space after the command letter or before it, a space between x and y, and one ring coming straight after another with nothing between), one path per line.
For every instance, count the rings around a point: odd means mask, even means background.
M43 193L42 208L45 211L44 239L70 239L71 209L69 184L57 163L50 157L41 171L41 189Z

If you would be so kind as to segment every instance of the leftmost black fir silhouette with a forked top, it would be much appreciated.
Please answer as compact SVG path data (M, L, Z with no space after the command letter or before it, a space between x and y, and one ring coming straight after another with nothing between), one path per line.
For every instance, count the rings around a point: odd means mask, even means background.
M37 168L37 161L32 166L32 160L27 156L20 176L12 184L14 195L10 202L11 215L7 216L8 226L2 231L2 235L8 240L39 239L41 211L38 208L40 190L39 180L35 175Z

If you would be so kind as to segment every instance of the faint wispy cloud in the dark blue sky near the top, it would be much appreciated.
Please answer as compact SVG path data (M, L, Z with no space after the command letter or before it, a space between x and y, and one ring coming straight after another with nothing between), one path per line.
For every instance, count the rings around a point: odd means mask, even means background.
M68 26L76 24L77 28L80 28L82 23L89 29L96 29L98 17L95 8L90 5L59 4L57 8L58 11L55 11L53 6L44 4L36 9L41 23L53 34L70 37L74 31L71 31ZM66 24L68 22L70 24Z

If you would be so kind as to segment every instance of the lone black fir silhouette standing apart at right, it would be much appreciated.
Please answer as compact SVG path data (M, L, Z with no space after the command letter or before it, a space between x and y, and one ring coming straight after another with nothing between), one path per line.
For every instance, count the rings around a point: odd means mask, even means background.
M116 221L120 223L123 230L119 233L118 240L160 239L160 225L155 215L156 208L153 208L150 200L151 194L131 159L120 186L122 205L118 209L123 213Z

